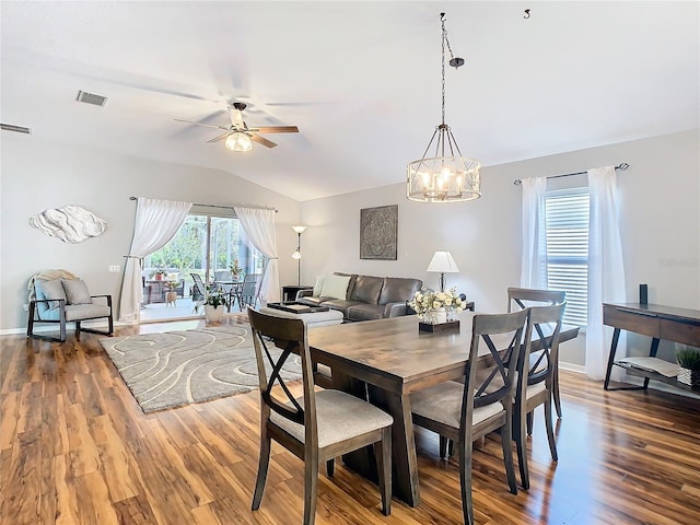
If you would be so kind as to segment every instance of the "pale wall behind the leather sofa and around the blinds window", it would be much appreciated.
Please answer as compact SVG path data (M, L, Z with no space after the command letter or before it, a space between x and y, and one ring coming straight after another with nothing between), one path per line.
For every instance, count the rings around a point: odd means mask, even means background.
M509 285L520 282L521 188L515 178L558 175L591 167L630 164L618 172L628 301L639 283L652 303L700 310L700 130L593 148L482 170L482 197L465 203L410 202L405 185L347 194L302 205L302 279L348 271L417 277L436 249L452 252L460 273L448 275L482 312L503 311ZM397 166L397 172L405 166ZM558 179L571 184L573 177ZM399 206L398 260L360 260L360 210ZM632 353L648 352L649 340L630 337ZM563 345L561 360L584 363L585 336ZM662 348L662 355L672 351Z

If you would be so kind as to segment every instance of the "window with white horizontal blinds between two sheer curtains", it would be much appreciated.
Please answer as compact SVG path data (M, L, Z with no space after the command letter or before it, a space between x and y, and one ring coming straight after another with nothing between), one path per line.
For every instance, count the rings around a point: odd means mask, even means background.
M563 322L585 327L588 316L588 190L548 191L547 288L567 292Z

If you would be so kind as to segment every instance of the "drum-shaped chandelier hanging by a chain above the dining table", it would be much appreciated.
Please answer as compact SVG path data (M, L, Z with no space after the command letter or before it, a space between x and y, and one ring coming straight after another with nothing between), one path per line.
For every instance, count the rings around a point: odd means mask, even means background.
M445 30L445 13L440 13L440 21L442 23L442 124L435 128L422 159L408 164L406 197L418 202L464 202L481 197L479 178L481 163L462 156L450 126L445 124L445 45L450 51L450 66L457 69L464 65L464 59L456 58L452 54ZM433 143L434 150L431 150Z

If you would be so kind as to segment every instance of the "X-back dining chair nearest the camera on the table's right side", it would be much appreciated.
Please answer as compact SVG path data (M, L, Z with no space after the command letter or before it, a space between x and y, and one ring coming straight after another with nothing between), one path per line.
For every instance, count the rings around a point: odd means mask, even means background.
M509 364L517 363L521 349L529 345L527 341L525 345L522 343L528 316L528 310L508 314L475 315L464 384L447 381L410 395L413 424L456 443L465 524L474 524L474 442L495 430L501 432L503 463L510 491L513 494L517 493L511 445L516 374L515 366ZM486 354L494 363L492 373L482 380L479 372L486 369L486 359L479 357L480 341L486 345Z

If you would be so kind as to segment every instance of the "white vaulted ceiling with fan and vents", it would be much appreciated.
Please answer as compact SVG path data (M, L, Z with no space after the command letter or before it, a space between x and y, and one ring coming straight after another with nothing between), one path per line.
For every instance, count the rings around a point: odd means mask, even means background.
M445 121L488 166L700 127L699 5L2 1L0 118L26 140L220 168L303 201L399 183L422 156L441 11L466 59L447 68ZM233 101L249 126L301 132L234 153L174 120L228 125Z

